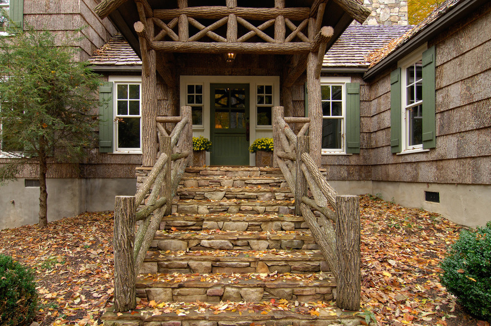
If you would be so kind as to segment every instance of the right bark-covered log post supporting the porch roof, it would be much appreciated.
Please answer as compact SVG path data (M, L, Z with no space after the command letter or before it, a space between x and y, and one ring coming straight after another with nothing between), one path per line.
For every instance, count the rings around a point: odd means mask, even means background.
M310 18L308 22L308 38L310 40L313 40L316 35L315 26L315 19ZM320 102L320 78L315 74L317 62L317 53L309 52L307 55L308 116L310 117L308 147L310 156L317 167L320 167L322 104Z

